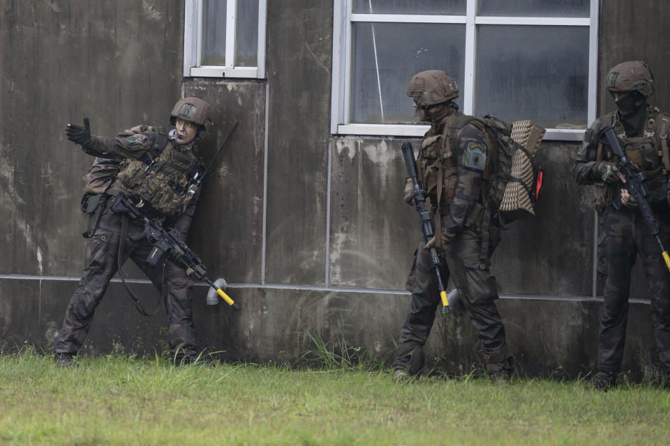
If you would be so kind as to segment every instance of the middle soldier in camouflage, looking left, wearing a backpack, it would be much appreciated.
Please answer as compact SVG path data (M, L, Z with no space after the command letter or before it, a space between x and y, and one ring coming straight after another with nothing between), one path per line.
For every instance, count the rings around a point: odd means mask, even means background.
M491 379L509 382L513 357L505 343L505 326L494 300L496 279L491 275L491 255L500 240L496 210L486 206L486 175L490 141L475 122L459 125L467 118L458 113L453 100L459 90L446 72L429 70L412 77L407 95L415 102L417 116L431 123L417 157L418 179L431 201L436 240L429 240L439 252L448 247L458 271L441 269L447 282L462 291L463 303L479 333ZM450 144L455 141L455 144ZM405 201L412 203L412 180L405 184ZM441 231L439 230L441 229ZM445 263L442 262L442 265ZM424 367L424 351L435 310L440 303L429 250L419 244L405 288L412 301L400 332L394 360L394 380L418 376Z

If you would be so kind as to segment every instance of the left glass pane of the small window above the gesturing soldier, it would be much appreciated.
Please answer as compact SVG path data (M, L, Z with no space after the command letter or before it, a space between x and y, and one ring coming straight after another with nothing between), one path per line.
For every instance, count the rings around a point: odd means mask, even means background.
M204 0L200 65L225 65L226 0Z

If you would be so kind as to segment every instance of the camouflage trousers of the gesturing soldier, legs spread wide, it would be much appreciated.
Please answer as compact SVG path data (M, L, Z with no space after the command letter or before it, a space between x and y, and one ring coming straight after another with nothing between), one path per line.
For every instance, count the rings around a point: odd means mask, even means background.
M98 229L86 247L84 276L70 299L63 328L54 344L56 353L74 354L79 351L91 328L96 307L119 269L117 259L122 216L113 213L110 205L111 200L107 203ZM128 234L142 229L137 222L128 221ZM168 341L173 357L177 355L179 359L184 355L195 355L195 324L191 309L193 280L188 277L184 268L170 260L158 263L158 266L149 265L147 256L152 248L146 238L139 242L126 238L121 261L125 263L128 258L132 259L164 296L169 323Z

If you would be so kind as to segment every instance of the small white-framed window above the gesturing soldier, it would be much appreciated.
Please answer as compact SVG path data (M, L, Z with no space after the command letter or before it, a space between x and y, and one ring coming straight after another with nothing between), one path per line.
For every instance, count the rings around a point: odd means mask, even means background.
M186 0L184 76L265 77L267 0Z

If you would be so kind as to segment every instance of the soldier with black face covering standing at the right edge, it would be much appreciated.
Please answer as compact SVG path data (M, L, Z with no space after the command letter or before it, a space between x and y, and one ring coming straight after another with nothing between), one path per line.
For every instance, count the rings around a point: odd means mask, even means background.
M606 276L600 314L598 371L593 378L593 385L600 390L614 385L619 372L626 335L630 273L637 254L650 285L652 321L662 372L666 380L670 377L670 272L636 203L623 187L618 158L599 141L600 130L613 125L626 157L648 177L650 204L660 223L660 236L668 243L667 130L670 117L648 105L646 98L654 92L653 76L641 61L624 62L612 68L607 75L607 90L616 102L616 110L597 118L586 131L573 171L577 183L597 186L596 205L600 215L597 270Z

